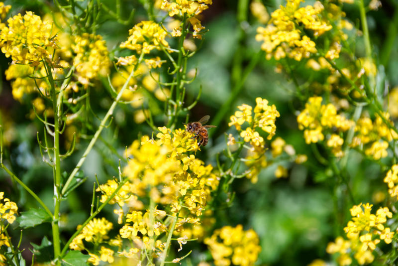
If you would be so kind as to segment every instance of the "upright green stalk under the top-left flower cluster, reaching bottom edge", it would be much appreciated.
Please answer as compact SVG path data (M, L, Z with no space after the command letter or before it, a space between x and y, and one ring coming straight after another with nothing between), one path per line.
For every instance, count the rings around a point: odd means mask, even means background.
M53 103L54 110L54 215L52 216L51 228L53 235L53 246L54 246L54 259L56 259L56 264L61 265L58 257L61 252L60 245L60 233L59 233L59 210L61 206L61 159L59 152L59 118L60 118L60 106L61 102L57 99L57 92L55 90L54 79L52 77L52 72L50 66L43 60L44 66L47 72L47 78L51 86L51 101ZM61 92L60 92L61 93ZM62 97L60 97L62 98Z

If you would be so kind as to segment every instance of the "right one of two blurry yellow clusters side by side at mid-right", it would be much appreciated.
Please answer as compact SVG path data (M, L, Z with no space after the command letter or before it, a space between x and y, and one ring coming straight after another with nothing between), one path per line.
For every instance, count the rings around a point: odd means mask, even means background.
M384 114L384 118L388 123L394 125L389 120L390 115L388 113ZM357 121L355 126L355 136L352 146L366 145L365 154L372 156L375 160L379 160L388 155L387 149L389 143L387 141L397 139L397 137L397 133L391 130L379 115L376 115L374 121L369 117L362 117Z

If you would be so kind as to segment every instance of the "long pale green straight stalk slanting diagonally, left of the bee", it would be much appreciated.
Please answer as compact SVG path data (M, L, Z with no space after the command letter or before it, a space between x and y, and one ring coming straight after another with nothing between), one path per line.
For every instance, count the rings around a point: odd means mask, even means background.
M130 79L134 76L134 72L137 69L138 65L141 63L142 59L144 58L144 53L141 53L137 64L131 71L130 75L128 76L126 82L124 83L123 87L120 89L120 92L117 94L116 99L113 101L112 105L110 106L108 112L106 113L105 117L102 119L100 123L100 127L98 128L97 132L94 134L94 137L91 139L89 145L87 146L85 152L83 153L82 157L80 158L78 164L76 165L75 169L73 169L72 173L69 175L64 187L62 188L62 195L65 194L65 192L68 189L69 184L71 183L72 179L75 177L77 172L79 171L80 167L83 165L84 161L86 160L87 155L90 153L91 149L93 148L94 144L96 143L98 137L100 136L100 133L102 130L105 128L105 124L109 117L113 114L113 110L115 109L117 103L120 101L120 98L124 92L124 90L127 88L128 83Z

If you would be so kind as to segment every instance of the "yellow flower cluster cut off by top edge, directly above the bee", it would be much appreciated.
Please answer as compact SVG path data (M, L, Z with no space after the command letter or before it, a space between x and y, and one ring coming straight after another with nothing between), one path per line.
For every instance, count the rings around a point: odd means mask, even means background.
M194 29L193 37L201 39L200 33L204 30L204 26L198 19L198 15L212 3L212 0L163 0L160 8L168 11L169 16L187 16ZM172 35L181 36L181 30L181 27L174 28Z

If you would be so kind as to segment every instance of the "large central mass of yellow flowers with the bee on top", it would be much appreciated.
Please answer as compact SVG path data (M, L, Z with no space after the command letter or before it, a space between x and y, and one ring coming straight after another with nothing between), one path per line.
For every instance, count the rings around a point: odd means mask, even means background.
M184 234L184 225L200 224L199 217L210 191L218 186L219 178L213 173L212 166L204 165L194 154L188 154L199 150L192 133L182 129L171 132L166 127L159 131L156 139L143 136L127 149L129 160L123 175L128 181L109 202L118 206L114 213L118 215L118 223L122 224L120 239L135 243L123 247L118 253L121 257L140 254L137 247L144 247L143 251L150 250L153 256L159 256L165 243L157 238L168 231L170 219L166 219L167 216L178 215L174 233L181 236L179 244L185 244L188 237ZM100 201L104 202L117 186L114 180L101 185L97 190L103 193ZM142 211L147 202L156 206ZM93 257L93 261L95 259Z

